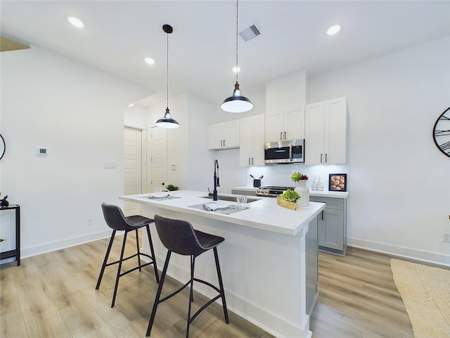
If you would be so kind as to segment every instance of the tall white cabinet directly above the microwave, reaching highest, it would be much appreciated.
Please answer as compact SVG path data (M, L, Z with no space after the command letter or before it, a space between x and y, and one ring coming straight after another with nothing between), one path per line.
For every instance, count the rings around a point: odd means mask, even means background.
M307 73L266 84L266 142L304 139Z

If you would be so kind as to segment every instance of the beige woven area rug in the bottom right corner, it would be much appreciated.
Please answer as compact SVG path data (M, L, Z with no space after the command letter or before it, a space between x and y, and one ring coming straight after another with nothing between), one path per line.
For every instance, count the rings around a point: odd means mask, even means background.
M415 338L450 337L450 270L391 259Z

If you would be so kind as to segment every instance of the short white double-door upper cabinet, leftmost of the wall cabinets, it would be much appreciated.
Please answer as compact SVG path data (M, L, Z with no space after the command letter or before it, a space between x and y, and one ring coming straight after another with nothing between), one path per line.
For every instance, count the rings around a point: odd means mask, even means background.
M208 149L239 148L239 120L208 125Z

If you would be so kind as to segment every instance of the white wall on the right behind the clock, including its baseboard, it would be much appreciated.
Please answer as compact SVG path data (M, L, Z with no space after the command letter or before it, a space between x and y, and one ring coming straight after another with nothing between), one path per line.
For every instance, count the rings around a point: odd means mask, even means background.
M450 264L449 60L446 38L311 77L310 102L347 96L349 245Z

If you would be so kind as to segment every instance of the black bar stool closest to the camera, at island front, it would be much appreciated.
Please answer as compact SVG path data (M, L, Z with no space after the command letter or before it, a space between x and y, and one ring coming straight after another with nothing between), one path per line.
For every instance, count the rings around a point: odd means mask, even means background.
M158 292L156 292L155 296L155 303L153 303L153 310L150 315L150 321L148 323L146 337L150 336L150 332L153 327L153 321L155 320L156 309L158 308L158 305L163 301L167 301L167 299L171 298L172 296L175 296L188 285L191 285L191 294L189 296L186 338L189 337L189 325L191 325L193 320L200 314L200 312L205 310L207 306L210 306L210 304L214 303L214 301L216 301L219 298L221 298L222 306L224 308L225 323L226 324L230 323L228 318L228 311L226 310L224 284L222 283L222 277L220 273L219 256L217 255L217 246L221 244L221 242L224 242L225 240L224 237L214 236L214 234L206 234L205 232L194 230L191 223L187 222L186 220L173 220L170 218L164 218L160 215L155 215L155 225L156 230L158 231L158 235L161 239L161 242L162 244L164 244L164 246L167 248L168 251L166 261L164 263L164 268L162 269L161 281L160 285L158 286ZM216 261L216 270L217 270L217 277L219 279L219 288L215 287L210 282L206 282L205 280L199 280L198 278L194 277L195 258L210 249L214 250L214 259ZM172 294L169 294L169 296L165 296L163 299L160 299L162 285L164 284L164 280L167 273L167 267L169 266L169 259L172 252L178 253L179 255L183 256L191 256L191 279L181 288L179 288ZM212 289L219 292L219 294L215 296L213 299L210 299L210 301L207 301L207 303L205 303L205 305L203 305L191 317L191 304L193 301L194 281L212 287Z

